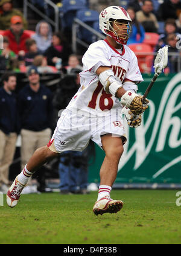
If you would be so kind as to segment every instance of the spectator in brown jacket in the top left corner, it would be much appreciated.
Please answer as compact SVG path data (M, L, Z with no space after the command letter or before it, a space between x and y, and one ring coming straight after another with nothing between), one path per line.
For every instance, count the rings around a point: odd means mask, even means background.
M13 8L11 0L1 0L0 1L0 28L1 30L8 30L11 25L11 18L13 16L21 16L24 28L27 29L27 21L24 18L21 11Z

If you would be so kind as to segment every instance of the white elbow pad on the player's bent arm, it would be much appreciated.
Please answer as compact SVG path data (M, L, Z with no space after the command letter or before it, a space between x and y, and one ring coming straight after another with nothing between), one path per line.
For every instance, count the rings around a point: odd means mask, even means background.
M118 89L122 88L122 83L116 80L111 69L101 72L99 75L99 80L104 86L104 90L107 92L107 94L112 94L115 97Z

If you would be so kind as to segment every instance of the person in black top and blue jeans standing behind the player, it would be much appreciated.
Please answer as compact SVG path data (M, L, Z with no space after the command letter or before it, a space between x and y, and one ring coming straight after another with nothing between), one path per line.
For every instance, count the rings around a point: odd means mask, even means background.
M68 106L69 101L80 87L81 69L73 68L71 74L65 75L60 81L53 99L58 112ZM56 120L57 121L57 120ZM59 164L60 193L87 193L87 149L83 152L66 151L60 154Z

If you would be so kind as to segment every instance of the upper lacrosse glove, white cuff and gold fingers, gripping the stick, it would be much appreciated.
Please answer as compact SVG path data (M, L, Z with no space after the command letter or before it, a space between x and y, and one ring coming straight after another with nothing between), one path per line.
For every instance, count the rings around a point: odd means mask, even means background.
M121 97L121 104L125 107L129 107L134 115L140 115L148 108L149 103L147 98L142 102L142 97L143 96L135 94L132 91L127 91Z

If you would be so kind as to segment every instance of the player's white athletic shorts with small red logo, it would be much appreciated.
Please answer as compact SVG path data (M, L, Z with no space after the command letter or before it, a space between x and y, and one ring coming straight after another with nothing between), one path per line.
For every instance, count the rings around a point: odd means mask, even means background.
M57 153L67 150L83 151L92 139L102 147L101 136L107 133L121 137L122 144L125 143L125 130L121 115L115 113L115 115L104 117L95 115L87 117L65 109L47 146Z

